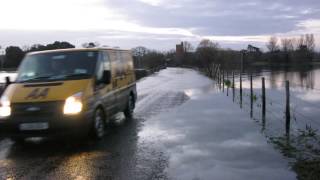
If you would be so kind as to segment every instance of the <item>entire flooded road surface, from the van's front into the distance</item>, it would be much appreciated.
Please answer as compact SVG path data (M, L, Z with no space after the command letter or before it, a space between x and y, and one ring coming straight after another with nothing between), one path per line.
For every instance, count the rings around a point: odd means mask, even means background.
M134 119L102 141L0 140L0 179L295 179L249 115L189 69L137 84Z

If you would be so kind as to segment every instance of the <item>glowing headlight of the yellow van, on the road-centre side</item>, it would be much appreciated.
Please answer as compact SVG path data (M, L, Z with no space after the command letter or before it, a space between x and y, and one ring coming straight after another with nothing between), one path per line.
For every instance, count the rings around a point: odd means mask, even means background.
M82 110L82 92L76 93L68 97L64 103L63 114L74 115Z

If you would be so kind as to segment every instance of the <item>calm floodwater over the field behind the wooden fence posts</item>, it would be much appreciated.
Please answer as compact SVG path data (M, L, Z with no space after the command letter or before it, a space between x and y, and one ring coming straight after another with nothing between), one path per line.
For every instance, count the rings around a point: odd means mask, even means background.
M261 119L262 80L266 83L266 124L263 128L274 134L283 134L285 129L286 90L285 81L290 86L291 133L305 130L306 126L314 130L320 129L320 65L304 65L277 68L253 68L243 74L243 106L250 111L250 74L253 74L252 113ZM231 80L232 77L229 77ZM239 76L236 76L235 93L239 98ZM269 120L269 121L268 121Z

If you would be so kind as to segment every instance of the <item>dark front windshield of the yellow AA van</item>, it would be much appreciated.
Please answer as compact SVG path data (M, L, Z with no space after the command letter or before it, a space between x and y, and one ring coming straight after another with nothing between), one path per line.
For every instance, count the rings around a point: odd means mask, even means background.
M94 73L97 58L97 51L27 55L19 67L16 82L89 78Z

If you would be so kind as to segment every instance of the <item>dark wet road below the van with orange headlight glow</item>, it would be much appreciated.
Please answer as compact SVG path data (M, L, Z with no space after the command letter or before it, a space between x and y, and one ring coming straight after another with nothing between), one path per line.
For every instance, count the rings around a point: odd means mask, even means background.
M100 142L83 139L32 140L22 145L10 142L1 149L7 149L7 153L1 157L0 178L146 179L144 172L136 168L137 160L141 159L137 145L140 122L115 119Z

